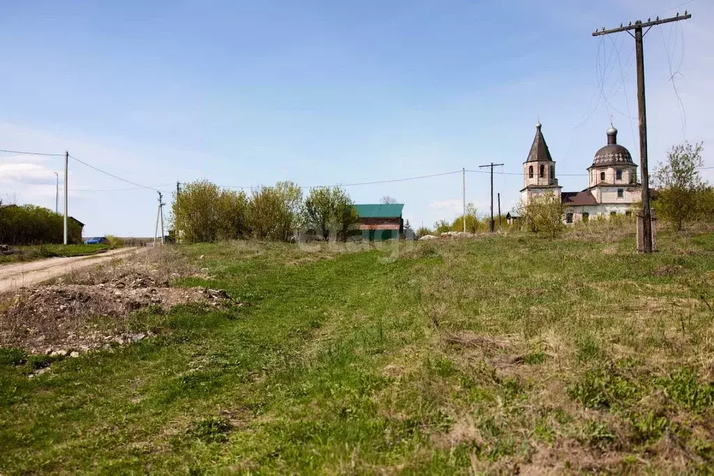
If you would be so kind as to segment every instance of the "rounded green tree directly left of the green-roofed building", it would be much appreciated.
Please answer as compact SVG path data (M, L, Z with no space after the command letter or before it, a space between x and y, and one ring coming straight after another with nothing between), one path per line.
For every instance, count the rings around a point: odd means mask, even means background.
M305 199L304 224L323 240L330 238L331 231L337 238L346 240L350 227L358 219L352 199L339 187L313 188Z

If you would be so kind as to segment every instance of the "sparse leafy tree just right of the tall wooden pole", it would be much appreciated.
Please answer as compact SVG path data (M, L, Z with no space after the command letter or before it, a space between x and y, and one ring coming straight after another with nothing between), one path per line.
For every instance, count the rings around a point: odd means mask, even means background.
M655 171L655 185L660 188L657 211L660 217L677 224L682 231L684 223L700 213L699 199L705 194L706 184L699 176L703 166L702 143L685 142L667 153L667 160L659 163Z

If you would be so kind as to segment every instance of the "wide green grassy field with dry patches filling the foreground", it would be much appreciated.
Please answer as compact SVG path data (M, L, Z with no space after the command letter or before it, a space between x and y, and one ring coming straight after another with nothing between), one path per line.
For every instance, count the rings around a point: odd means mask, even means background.
M180 248L245 305L0 351L0 473L710 472L714 234L622 235Z

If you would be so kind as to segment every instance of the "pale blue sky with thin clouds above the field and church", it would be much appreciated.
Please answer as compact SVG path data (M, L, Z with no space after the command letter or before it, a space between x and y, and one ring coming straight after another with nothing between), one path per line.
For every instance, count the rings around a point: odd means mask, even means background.
M645 36L650 161L686 138L705 141L712 166L714 6L683 3L3 2L0 148L69 150L166 191L199 178L311 186L491 161L518 173L540 119L560 185L580 190L585 176L565 174L585 173L610 116L639 156L628 118L637 116L634 41L590 33L688 9L693 19ZM0 197L54 208L62 167L0 153ZM131 186L74 161L69 180L70 214L87 235L153 235L156 192L87 191ZM466 180L467 201L486 212L488 176ZM504 210L521 180L496 175ZM397 198L414 226L461 211L460 174L348 192L358 203Z

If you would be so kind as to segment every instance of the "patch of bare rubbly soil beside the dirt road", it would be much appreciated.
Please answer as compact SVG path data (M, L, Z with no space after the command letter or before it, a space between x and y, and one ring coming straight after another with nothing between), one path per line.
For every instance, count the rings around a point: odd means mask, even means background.
M0 347L76 356L148 337L132 332L127 319L141 308L168 311L180 304L230 301L223 290L169 288L168 280L137 271L96 280L103 282L41 285L0 299Z

